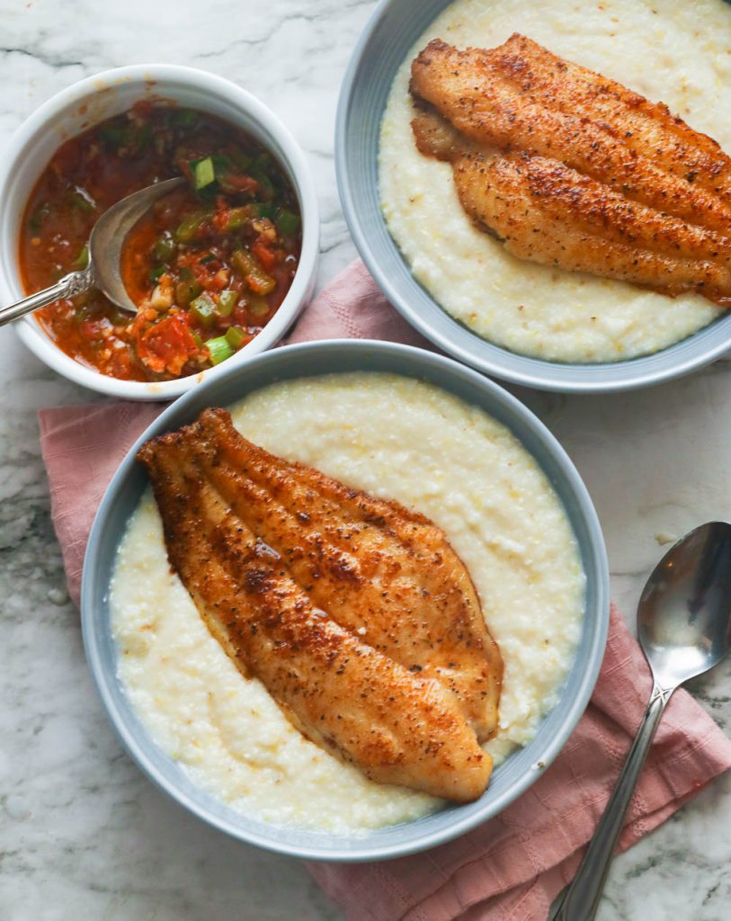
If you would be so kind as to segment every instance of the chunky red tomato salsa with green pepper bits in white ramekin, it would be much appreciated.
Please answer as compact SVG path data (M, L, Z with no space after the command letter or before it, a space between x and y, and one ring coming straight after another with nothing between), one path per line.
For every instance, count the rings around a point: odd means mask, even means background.
M180 175L189 183L125 242L136 316L97 290L36 314L67 355L110 377L168 380L219 364L272 319L295 276L300 217L274 157L215 116L141 102L66 141L43 171L21 232L26 290L86 265L111 204Z

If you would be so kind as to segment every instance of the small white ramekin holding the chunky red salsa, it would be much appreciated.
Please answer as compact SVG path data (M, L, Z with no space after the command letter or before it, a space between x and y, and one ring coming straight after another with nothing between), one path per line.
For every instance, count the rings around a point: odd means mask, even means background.
M57 93L30 115L11 138L0 165L0 297L5 303L25 295L18 265L20 222L42 170L64 140L128 110L140 99L169 99L180 106L210 112L251 134L281 163L295 188L302 214L299 266L281 307L249 344L218 367L156 383L119 380L65 355L32 316L16 323L17 333L29 349L77 384L126 400L173 400L223 367L240 365L270 348L290 327L315 283L318 200L307 160L292 135L272 111L229 80L174 64L133 64L89 76Z

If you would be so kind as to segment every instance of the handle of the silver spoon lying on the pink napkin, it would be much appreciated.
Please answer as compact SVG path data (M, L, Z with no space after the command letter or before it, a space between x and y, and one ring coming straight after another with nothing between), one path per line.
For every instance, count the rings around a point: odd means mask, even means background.
M660 717L674 690L675 688L664 690L657 684L653 687L643 721L634 737L632 748L621 769L604 815L599 820L597 831L589 842L574 880L558 894L551 905L548 921L592 921L596 916L624 816L632 802L634 788L655 738Z

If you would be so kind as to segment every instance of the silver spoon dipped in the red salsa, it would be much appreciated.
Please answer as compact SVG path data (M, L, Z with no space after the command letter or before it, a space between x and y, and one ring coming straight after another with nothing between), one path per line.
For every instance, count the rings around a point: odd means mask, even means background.
M91 230L87 267L79 272L64 275L55 285L44 288L37 294L31 294L15 304L0 308L0 326L45 307L46 304L52 304L54 300L83 294L92 287L98 287L122 310L136 313L137 305L127 294L120 272L124 239L153 202L184 182L182 176L157 182L146 189L127 195L117 204L112 204Z

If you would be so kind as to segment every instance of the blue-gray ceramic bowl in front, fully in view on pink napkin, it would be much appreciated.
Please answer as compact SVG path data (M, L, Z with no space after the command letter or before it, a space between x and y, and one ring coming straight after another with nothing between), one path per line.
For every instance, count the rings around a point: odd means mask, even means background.
M362 837L336 837L278 828L249 819L193 786L179 764L149 738L117 679L117 651L110 633L109 586L117 546L147 483L134 459L147 438L190 423L206 406L226 406L274 380L354 370L389 371L428 380L476 404L510 428L539 461L563 501L586 573L586 613L580 645L558 704L535 738L493 774L477 802L452 806L416 822ZM556 439L515 397L490 380L442 356L406 345L334 340L290 345L222 369L215 378L173 403L140 437L114 475L89 537L81 596L87 659L102 702L133 759L159 787L186 809L228 834L297 857L366 860L397 857L447 841L495 815L540 775L533 765L550 764L581 716L597 680L609 619L607 557L597 515L586 488Z

